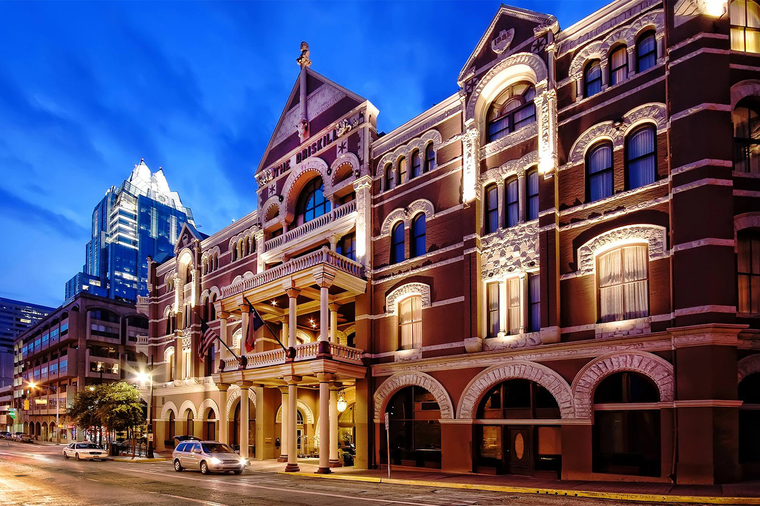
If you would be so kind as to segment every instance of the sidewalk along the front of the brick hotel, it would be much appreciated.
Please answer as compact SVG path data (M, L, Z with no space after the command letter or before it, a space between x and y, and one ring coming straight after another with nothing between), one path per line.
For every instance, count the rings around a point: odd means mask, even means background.
M572 495L618 501L659 501L692 504L760 504L760 480L730 485L688 486L647 482L592 482L539 479L528 476L451 474L435 470L356 470L335 467L331 474L315 474L316 460L299 460L300 473L285 473L285 464L276 460L252 460L249 470L308 476L318 479L394 483L447 489L489 490L492 492Z

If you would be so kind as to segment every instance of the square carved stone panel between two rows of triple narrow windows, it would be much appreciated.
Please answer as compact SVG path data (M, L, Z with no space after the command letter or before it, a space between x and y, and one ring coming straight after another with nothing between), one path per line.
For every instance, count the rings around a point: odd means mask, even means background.
M500 278L538 266L538 227L501 228L480 242L480 275Z

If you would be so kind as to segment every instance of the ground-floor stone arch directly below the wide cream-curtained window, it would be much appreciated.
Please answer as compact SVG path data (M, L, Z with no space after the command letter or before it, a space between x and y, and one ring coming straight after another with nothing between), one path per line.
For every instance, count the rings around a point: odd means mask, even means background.
M673 401L673 364L645 351L611 353L587 363L575 376L572 396L578 419L591 420L594 388L606 376L620 371L640 372L648 376L660 390L660 401Z

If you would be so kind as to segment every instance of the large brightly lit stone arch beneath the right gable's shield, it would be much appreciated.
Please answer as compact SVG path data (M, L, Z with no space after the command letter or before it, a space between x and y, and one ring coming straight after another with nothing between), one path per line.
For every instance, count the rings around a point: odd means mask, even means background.
M506 85L521 78L532 81L537 88L536 94L539 95L538 88L546 83L547 75L546 64L534 53L518 52L499 61L475 86L472 96L467 101L465 122L485 118L484 112L492 99L496 98Z

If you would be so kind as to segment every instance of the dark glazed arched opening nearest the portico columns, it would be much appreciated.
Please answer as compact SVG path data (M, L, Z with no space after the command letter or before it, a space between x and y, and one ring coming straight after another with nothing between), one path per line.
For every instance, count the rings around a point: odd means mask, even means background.
M388 413L391 464L410 467L441 468L441 408L435 397L420 386L397 391L385 408ZM381 448L388 444L380 431ZM385 451L382 464L388 464Z

